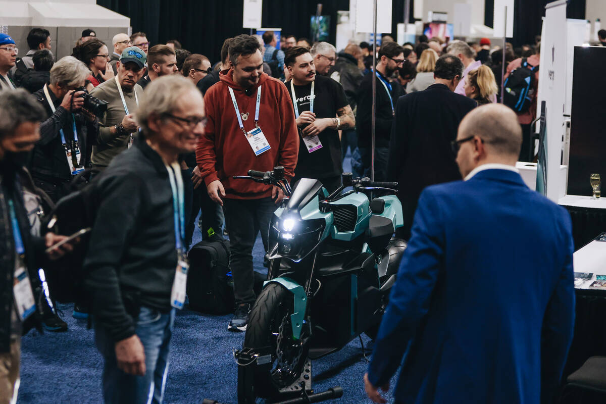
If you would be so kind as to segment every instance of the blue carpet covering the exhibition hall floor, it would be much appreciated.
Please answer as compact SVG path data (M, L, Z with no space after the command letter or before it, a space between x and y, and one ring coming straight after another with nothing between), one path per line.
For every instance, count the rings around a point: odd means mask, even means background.
M345 171L350 170L349 159ZM199 230L194 243L201 239ZM267 271L260 237L255 243L255 270ZM22 339L21 388L19 403L88 404L101 403L102 359L95 348L93 331L84 320L72 318L72 305L59 305L68 323L67 333L30 331ZM198 404L204 398L236 403L236 364L232 349L241 348L244 333L230 333L231 316L208 316L183 310L175 321L171 340L170 369L165 403ZM370 340L363 336L364 344ZM342 403L368 403L362 376L367 362L359 340L341 351L313 361L314 388L324 391L341 386ZM392 399L391 394L386 394ZM335 402L333 400L333 402Z

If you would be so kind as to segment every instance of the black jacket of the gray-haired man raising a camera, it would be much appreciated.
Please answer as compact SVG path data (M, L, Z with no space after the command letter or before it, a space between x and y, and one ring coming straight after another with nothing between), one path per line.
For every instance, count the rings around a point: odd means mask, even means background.
M46 101L43 90L38 90L33 94L38 98L38 102L46 111L47 116L40 124L40 140L36 143L32 153L30 172L33 177L41 180L57 183L67 182L72 179L72 173L70 173L70 167L67 164L59 129L63 129L67 142L72 141L74 138L72 114L60 106L62 100L57 99L50 88L48 94L56 108L54 113ZM99 120L95 119L95 122L90 122L79 113L73 114L73 117L76 121L76 131L78 131L81 153L80 165L88 167L87 145L96 144L99 134Z

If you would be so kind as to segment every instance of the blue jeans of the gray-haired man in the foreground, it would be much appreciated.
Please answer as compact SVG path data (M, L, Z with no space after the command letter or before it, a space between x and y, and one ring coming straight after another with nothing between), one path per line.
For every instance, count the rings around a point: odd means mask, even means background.
M105 359L103 397L105 404L161 404L168 377L168 345L175 322L175 309L160 313L141 307L135 333L145 350L145 376L124 373L116 362L115 343L95 322L95 344Z

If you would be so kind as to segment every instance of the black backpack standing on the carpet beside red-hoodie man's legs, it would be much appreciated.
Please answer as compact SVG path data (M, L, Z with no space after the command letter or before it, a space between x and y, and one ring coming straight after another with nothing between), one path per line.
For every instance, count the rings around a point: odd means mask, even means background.
M191 310L208 314L233 313L235 300L225 240L202 240L187 254L187 298Z

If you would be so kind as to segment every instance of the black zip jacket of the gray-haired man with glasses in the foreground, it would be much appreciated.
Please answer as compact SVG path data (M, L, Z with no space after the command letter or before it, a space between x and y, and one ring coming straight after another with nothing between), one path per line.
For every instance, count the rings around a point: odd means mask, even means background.
M170 310L177 265L168 171L144 136L138 139L99 175L84 260L93 314L115 341L135 334L141 306Z

